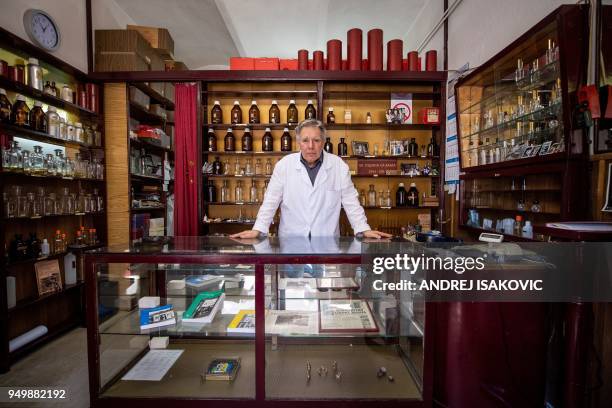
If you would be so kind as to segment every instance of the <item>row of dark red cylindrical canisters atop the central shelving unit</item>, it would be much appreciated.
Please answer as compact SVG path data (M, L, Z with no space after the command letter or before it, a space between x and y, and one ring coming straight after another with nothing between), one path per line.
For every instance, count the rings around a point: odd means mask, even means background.
M410 51L403 58L404 43L400 39L387 43L387 71L421 71L421 58L417 51ZM333 39L327 42L327 59L323 51L314 51L309 61L308 50L298 51L298 70L329 71L382 71L383 70L383 31L374 28L368 31L367 59L363 59L363 32L352 28L347 32L347 58L342 58L342 41ZM425 71L438 70L435 50L425 53Z

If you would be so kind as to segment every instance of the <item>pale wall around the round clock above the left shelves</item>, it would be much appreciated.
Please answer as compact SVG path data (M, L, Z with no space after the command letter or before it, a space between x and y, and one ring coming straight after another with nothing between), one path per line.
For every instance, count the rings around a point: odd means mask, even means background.
M0 26L29 42L31 41L23 26L23 14L31 8L47 12L59 25L61 36L60 48L53 54L87 72L87 25L84 0L4 0L1 7Z

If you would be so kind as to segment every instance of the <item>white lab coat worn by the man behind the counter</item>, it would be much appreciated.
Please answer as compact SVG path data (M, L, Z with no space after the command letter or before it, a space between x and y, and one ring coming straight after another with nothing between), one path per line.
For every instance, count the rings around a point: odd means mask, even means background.
M348 165L338 156L322 154L314 186L300 162L301 153L287 155L276 164L253 229L267 234L279 205L281 237L340 235L341 206L355 233L370 229Z

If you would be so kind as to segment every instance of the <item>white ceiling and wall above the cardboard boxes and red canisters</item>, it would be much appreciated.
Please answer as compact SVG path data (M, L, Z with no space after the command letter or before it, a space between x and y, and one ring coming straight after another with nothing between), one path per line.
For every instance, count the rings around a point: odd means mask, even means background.
M346 32L382 28L383 42L407 35L428 1L442 0L114 0L139 25L165 27L175 59L190 69L227 67L229 57L297 58L297 50L326 50ZM95 10L94 10L95 12ZM96 15L93 16L94 22ZM95 26L95 24L94 24ZM101 27L100 27L101 28ZM114 28L114 27L106 27ZM406 50L407 51L407 50Z

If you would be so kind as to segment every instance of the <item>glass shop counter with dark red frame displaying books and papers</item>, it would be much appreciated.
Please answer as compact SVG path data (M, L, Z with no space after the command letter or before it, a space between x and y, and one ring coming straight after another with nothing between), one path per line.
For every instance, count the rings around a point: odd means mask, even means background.
M428 406L435 304L377 290L411 277L373 274L364 245L179 237L88 252L92 406Z

